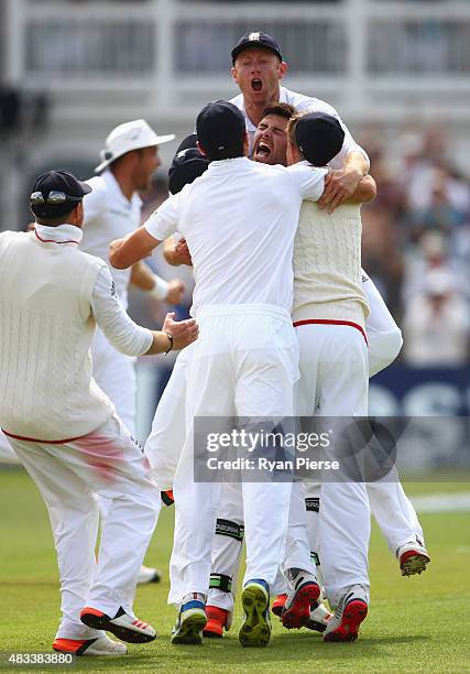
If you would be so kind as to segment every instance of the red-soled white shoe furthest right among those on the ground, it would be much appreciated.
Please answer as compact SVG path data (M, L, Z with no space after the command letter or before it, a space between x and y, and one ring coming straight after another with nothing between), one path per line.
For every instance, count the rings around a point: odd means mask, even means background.
M328 620L324 641L356 641L359 627L368 615L368 589L363 585L352 585L341 597L340 602Z

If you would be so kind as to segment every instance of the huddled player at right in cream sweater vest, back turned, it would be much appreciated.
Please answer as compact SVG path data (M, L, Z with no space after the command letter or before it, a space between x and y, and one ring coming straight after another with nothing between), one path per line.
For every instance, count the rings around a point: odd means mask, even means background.
M288 126L287 161L326 166L343 137L340 123L329 115L294 118ZM300 350L296 411L302 417L335 417L329 420L332 448L338 417L368 415L369 305L361 287L361 231L359 206L341 205L328 215L306 202L295 238L293 320ZM302 500L299 510L304 510ZM324 476L320 556L326 594L337 607L325 641L352 641L367 616L369 534L364 480L354 481L343 469L338 477ZM286 566L291 565L287 559ZM308 607L306 612L308 619Z

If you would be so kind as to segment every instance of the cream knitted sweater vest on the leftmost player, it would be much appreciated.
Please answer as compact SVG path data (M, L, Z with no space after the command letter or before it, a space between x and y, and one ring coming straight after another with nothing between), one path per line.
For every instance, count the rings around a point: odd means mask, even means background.
M44 441L79 437L113 413L91 378L91 294L103 262L34 232L0 235L0 425Z

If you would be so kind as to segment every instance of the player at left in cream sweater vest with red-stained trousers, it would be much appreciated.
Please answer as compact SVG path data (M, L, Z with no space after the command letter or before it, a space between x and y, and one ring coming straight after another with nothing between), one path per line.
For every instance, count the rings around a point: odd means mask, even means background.
M160 494L140 447L91 378L96 322L130 356L181 348L194 322L164 333L135 325L108 267L78 250L90 187L66 172L35 182L36 228L0 235L0 423L48 509L63 618L53 648L78 655L125 653L124 641L155 638L129 598L154 530ZM110 501L98 562L96 496ZM84 608L88 605L88 608Z

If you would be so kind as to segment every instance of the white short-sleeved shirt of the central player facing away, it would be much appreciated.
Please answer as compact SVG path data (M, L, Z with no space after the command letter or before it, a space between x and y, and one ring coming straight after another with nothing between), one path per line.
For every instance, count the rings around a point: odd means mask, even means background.
M270 304L291 312L294 236L304 198L317 200L325 168L288 168L247 157L216 161L172 195L144 227L163 241L176 230L188 243L203 306Z

